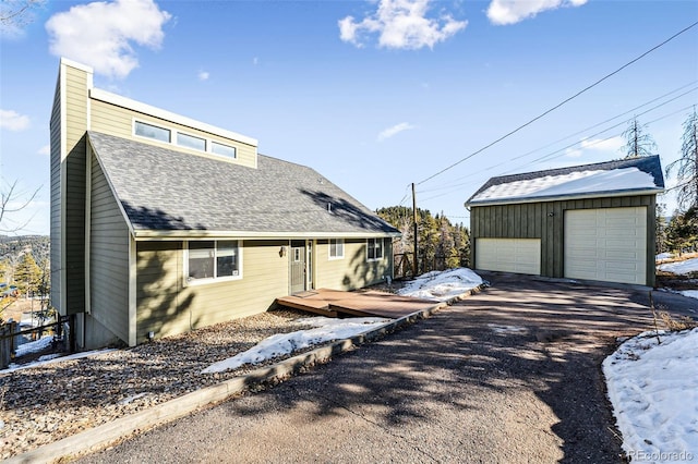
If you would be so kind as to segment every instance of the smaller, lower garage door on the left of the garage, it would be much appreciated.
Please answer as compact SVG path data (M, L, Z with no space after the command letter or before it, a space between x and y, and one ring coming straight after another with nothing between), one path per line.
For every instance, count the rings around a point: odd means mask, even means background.
M540 239L477 239L476 267L504 272L541 273Z

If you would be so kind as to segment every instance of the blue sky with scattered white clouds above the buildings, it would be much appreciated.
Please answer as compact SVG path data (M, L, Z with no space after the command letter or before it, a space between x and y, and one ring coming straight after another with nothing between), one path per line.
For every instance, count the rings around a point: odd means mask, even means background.
M433 176L697 21L690 0L47 1L0 37L0 181L40 188L0 229L49 232L61 56L93 66L96 87L254 137L371 209L411 206L413 182L419 207L468 224L464 202L493 175L622 157L634 115L663 166L676 159L698 26Z

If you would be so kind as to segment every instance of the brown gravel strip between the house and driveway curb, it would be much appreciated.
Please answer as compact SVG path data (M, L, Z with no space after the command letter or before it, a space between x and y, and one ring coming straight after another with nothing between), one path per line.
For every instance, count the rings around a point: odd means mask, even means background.
M274 310L129 350L0 375L0 459L244 374L249 369L200 371L269 335L302 329L294 319L308 316Z

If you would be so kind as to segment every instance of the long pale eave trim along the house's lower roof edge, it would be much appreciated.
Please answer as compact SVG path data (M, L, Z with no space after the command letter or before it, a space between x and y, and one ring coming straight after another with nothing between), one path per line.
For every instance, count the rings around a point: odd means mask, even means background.
M250 231L202 231L202 230L135 230L133 236L136 241L151 240L210 240L210 239L372 239L372 237L399 237L399 232L250 232Z

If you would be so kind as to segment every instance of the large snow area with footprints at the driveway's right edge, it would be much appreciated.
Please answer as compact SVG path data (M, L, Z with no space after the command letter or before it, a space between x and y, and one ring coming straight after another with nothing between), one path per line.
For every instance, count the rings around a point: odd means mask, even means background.
M631 461L698 460L698 328L645 332L603 362Z

